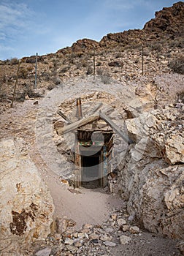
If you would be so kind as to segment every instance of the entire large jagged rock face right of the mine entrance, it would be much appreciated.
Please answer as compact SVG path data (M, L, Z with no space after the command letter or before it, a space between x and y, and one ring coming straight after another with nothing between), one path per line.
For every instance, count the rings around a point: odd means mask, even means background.
M182 120L182 110L176 108L127 120L135 145L123 163L121 178L129 213L147 230L172 238L184 238Z

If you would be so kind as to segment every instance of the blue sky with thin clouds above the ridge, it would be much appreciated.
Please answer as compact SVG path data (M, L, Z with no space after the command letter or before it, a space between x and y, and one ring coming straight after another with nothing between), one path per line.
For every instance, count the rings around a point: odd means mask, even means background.
M0 59L55 53L77 39L142 29L172 0L0 0Z

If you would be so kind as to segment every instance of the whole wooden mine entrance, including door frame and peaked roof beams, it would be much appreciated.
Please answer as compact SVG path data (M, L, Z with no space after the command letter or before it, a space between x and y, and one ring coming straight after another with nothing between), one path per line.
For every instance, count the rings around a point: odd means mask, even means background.
M107 115L101 113L101 111L98 114L93 113L93 115L87 118L82 118L73 124L64 113L60 111L58 114L68 122L68 125L65 127L58 127L58 135L64 135L67 132L74 132L75 134L73 156L75 164L74 187L85 187L86 183L90 183L91 177L85 172L88 169L91 174L92 168L90 167L93 167L93 172L95 173L92 176L92 180L99 182L98 187L106 187L108 184L107 176L112 172L114 132L123 138L126 143L131 144L134 142ZM92 125L91 129L89 129L88 124L98 122L100 119L105 121L107 124L106 128L93 129ZM86 176L87 181L85 181Z

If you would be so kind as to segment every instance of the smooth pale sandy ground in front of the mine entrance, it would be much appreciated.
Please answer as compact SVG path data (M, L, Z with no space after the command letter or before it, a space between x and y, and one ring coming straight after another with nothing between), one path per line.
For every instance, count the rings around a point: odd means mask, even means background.
M73 219L77 230L86 223L101 225L110 218L113 208L123 206L123 200L110 195L108 188L73 189L47 167L42 167L40 173L53 197L55 217Z

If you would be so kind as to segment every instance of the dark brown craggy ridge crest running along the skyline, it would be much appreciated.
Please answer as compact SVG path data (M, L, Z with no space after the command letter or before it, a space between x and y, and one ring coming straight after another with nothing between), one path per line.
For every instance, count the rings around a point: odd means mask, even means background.
M57 53L77 53L93 50L96 48L110 48L115 45L139 44L145 39L158 39L158 37L178 37L184 33L184 4L179 1L172 7L164 7L163 10L156 12L156 18L145 23L144 29L129 29L128 31L110 33L104 36L100 42L92 39L80 39L74 42L72 47L58 50Z

